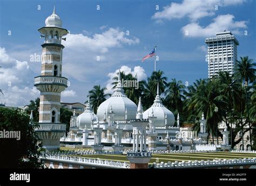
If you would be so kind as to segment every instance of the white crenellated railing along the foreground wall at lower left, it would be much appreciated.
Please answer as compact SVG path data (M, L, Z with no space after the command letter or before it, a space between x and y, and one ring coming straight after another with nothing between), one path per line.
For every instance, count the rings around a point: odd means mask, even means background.
M84 164L88 166L106 167L106 168L119 168L119 169L130 168L130 163L120 162L120 161L107 161L107 160L100 160L100 159L78 158L78 157L59 156L59 155L48 155L46 156L46 158L42 158L42 159L66 162L66 163L70 162L70 163Z

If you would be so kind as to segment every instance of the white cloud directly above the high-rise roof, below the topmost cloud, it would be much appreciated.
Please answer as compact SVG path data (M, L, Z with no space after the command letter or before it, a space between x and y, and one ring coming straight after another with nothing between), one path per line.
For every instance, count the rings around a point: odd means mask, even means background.
M216 32L224 30L231 31L239 34L239 28L247 28L246 21L234 21L234 16L219 15L213 19L213 22L205 27L200 26L198 23L190 23L181 28L185 37L210 37L214 36Z

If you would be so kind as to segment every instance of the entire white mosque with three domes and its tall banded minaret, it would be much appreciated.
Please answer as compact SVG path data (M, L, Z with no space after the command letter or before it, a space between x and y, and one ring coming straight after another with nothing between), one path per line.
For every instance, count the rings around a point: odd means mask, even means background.
M143 146L143 151L217 148L207 145L204 114L200 120L198 136L192 128L179 126L179 115L177 126L174 126L174 115L161 102L158 85L152 106L143 112L141 98L136 105L124 94L120 70L112 96L99 105L97 115L92 111L89 97L84 112L71 117L68 136L63 136L66 125L59 121L60 92L67 87L67 78L62 76L62 40L65 40L63 37L68 31L62 28L62 20L56 15L55 9L52 15L46 18L45 26L38 31L44 38L44 44L41 75L35 77L35 86L41 92L40 127L36 131L43 141L43 146L49 151L59 148L60 144L91 146L96 151L105 147L122 150L135 146L136 149L139 146L142 149ZM145 130L138 129L142 128L138 126L138 120L141 121L140 124L145 124ZM223 134L224 139L228 139L228 132ZM227 142L228 140L224 140L223 148L230 147Z

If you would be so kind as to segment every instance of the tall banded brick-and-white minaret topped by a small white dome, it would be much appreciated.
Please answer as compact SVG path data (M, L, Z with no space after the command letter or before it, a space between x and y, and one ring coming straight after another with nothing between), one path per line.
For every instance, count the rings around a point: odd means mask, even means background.
M39 124L36 131L43 141L43 146L52 151L59 148L59 138L66 130L60 124L60 92L68 87L68 79L62 77L62 38L68 30L62 28L62 20L53 9L52 15L46 18L45 26L39 28L44 38L41 62L41 75L35 77L35 86L41 92ZM47 130L44 130L47 128Z

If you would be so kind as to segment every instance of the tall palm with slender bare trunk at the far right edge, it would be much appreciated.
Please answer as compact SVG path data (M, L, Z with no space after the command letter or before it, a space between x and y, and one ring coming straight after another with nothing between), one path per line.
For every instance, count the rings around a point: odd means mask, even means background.
M253 63L252 59L249 59L248 56L240 57L240 61L237 61L236 67L235 67L235 74L238 76L238 78L242 81L242 84L244 85L245 89L245 97L246 97L246 110L247 110L247 120L249 124L249 132L250 132L250 145L252 147L252 138L251 138L251 124L250 124L250 118L249 118L249 109L247 104L247 87L249 83L252 83L255 80L255 71L254 68L256 66L256 63ZM241 103L242 104L242 103ZM241 112L241 118L242 118L242 112ZM242 119L241 119L241 125L242 125ZM243 131L243 128L241 129ZM243 135L243 132L242 132ZM242 149L244 150L244 140L242 139Z

